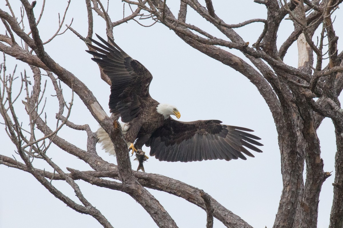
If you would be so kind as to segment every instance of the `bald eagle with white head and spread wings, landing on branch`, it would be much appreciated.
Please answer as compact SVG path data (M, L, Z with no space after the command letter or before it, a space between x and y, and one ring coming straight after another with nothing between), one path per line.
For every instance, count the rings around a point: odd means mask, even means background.
M123 134L129 149L137 151L145 144L150 155L160 161L202 161L212 159L244 159L254 157L246 148L262 152L259 137L249 134L252 130L221 124L219 120L181 122L174 105L161 104L149 94L152 75L140 62L132 59L108 37L109 42L96 35L102 42L88 44L103 73L111 80L109 109L121 117ZM106 132L98 134L105 147L113 147ZM107 140L107 145L106 145ZM246 148L245 148L246 147ZM132 152L133 152L132 151Z

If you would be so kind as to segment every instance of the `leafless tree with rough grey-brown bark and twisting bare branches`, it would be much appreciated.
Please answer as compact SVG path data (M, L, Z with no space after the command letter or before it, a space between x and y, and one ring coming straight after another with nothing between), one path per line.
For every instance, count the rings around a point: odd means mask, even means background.
M199 189L168 177L133 172L125 139L117 122L112 124L113 122L92 92L72 72L58 65L44 49L46 43L57 35L63 34L61 28L64 17L59 23L56 34L43 42L40 38L41 31L37 27L41 14L40 16L36 14L43 10L35 11L35 2L29 3L27 0L21 0L21 2L22 15L19 18L14 15L8 1L8 9L0 10L0 17L7 30L6 33L0 35L0 50L31 67L34 78L32 85L26 72L21 76L22 89L26 91L24 104L29 117L29 129L24 129L16 118L13 104L20 97L22 90L18 96L13 97L12 84L15 77L14 73L8 75L5 72L4 61L0 112L5 121L6 131L22 161L2 156L0 164L31 173L55 197L75 211L93 216L104 227L112 226L83 197L78 185L74 182L75 179L127 193L144 207L158 227L177 226L163 206L144 187L171 193L200 206L208 214L208 227L213 225L213 216L227 227L251 227ZM343 89L343 53L338 53L338 37L334 31L332 13L338 9L342 1L255 0L255 4L263 4L267 8L266 18L255 18L239 24L227 24L225 18L218 17L215 13L218 6L211 0L206 0L205 5L201 5L196 0L181 0L177 16L169 10L165 0L124 0L124 2L130 7L132 14L124 15L123 19L113 22L110 19L109 10L99 0L86 0L87 34L83 36L74 30L71 24L67 25L67 28L85 43L90 43L89 38L93 36L94 13L103 18L106 23L106 33L111 38L113 38L113 28L129 20L137 21L140 18L152 20L151 25L156 22L162 23L194 49L247 77L265 99L276 124L282 165L283 190L274 222L275 228L317 227L319 193L323 182L331 175L323 170L317 129L324 117L333 121L337 151L330 228L341 228L343 223L343 114L338 96ZM212 36L202 29L201 24L188 24L186 22L188 10L198 13L227 39ZM285 19L293 21L294 31L289 34L278 50L277 32L280 23ZM235 28L250 26L252 23L263 23L264 29L256 42L249 44L239 36ZM29 27L29 31L25 31L24 24ZM316 31L319 31L318 39L314 35ZM298 68L283 62L289 47L296 40L299 49ZM220 47L225 47L225 49ZM240 51L247 59L244 60L226 51L226 48ZM327 65L324 64L325 59L329 59ZM59 102L60 111L56 116L56 128L48 125L42 117L44 87L41 86L41 80L43 74L51 80ZM96 135L88 125L76 125L68 120L73 99L69 103L66 102L55 77L81 98L94 119L109 133L117 151L118 166L104 161L97 155ZM109 83L105 75L102 75L102 79ZM67 114L63 114L65 109ZM87 151L56 135L63 125L87 132ZM35 128L39 129L39 134L35 133ZM50 144L55 144L62 150L82 159L92 167L93 171L80 172L69 169L70 173L63 172L46 155ZM37 169L32 165L32 159L44 160L57 173ZM303 178L305 167L306 182ZM102 177L118 179L121 183ZM74 189L82 205L63 195L48 179L66 181Z

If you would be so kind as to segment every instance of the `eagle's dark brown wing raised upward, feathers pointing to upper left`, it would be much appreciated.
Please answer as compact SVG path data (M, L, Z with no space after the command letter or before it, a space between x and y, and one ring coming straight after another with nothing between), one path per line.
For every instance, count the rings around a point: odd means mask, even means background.
M140 62L121 50L111 38L108 38L110 44L100 36L96 36L105 45L91 39L98 47L88 45L97 52L87 52L99 57L92 59L111 80L111 95L108 103L110 112L119 113L123 122L129 122L152 100L149 94L152 75Z

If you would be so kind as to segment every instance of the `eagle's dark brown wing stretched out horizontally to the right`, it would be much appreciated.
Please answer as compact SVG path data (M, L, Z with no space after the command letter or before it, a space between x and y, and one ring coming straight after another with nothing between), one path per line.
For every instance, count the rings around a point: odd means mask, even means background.
M221 124L219 120L180 122L169 118L150 138L150 155L160 161L202 161L212 159L244 159L245 147L262 152L259 137L244 131L252 130ZM253 144L253 145L252 145Z

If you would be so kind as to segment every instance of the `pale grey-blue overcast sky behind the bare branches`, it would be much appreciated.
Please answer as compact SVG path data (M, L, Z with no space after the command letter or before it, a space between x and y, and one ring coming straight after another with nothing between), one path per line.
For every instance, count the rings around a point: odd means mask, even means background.
M17 1L10 1L15 4ZM263 5L253 1L214 1L216 14L228 24L236 24L252 18L266 18L266 9ZM171 2L167 1L167 4ZM240 4L239 4L240 3ZM41 1L36 6L36 15L39 14ZM112 3L111 3L112 4ZM225 5L224 5L225 4ZM49 39L58 27L58 13L63 14L66 1L54 3L47 1L46 10L39 24L40 36L43 41ZM122 18L121 1L110 5L112 21ZM8 11L5 2L0 6ZM178 5L169 5L175 13ZM13 10L20 15L19 8ZM126 10L128 10L126 5ZM8 11L9 12L9 11ZM128 15L129 12L126 13ZM216 29L211 27L203 18L188 11L192 16L188 23L201 25L212 35L224 38ZM37 18L38 16L36 16ZM87 34L87 15L84 4L72 1L64 24L69 24L74 18L72 27L81 35ZM105 37L105 24L94 14L94 32ZM342 16L336 18L342 21ZM150 24L151 21L144 21ZM49 24L50 23L50 24ZM337 25L336 25L337 26ZM336 27L337 28L337 27ZM28 25L26 25L28 29ZM263 29L261 23L255 23L246 28L237 29L245 41L254 43ZM292 32L292 22L287 20L282 23L278 33L278 45ZM4 26L1 33L4 33ZM25 30L26 31L26 30ZM27 30L28 32L28 30ZM340 36L342 31L336 30ZM199 119L218 119L227 125L236 125L255 130L253 134L262 138L261 148L263 153L253 152L255 158L246 161L212 160L202 162L161 162L151 157L144 163L147 173L165 175L209 193L214 199L228 210L243 218L253 227L272 227L282 190L280 167L280 151L277 144L275 124L268 106L263 98L243 75L228 66L200 53L179 39L167 27L157 23L152 27L142 27L131 21L114 28L116 43L132 58L140 61L153 75L150 94L161 103L175 105L181 113L181 121ZM17 40L18 41L18 40ZM85 44L71 31L58 36L54 41L45 46L47 53L62 67L71 71L93 91L98 102L109 115L108 97L109 86L100 79L97 64L91 60L91 55L86 53ZM339 46L341 52L342 46ZM239 52L232 53L243 57ZM288 51L284 62L297 67L296 43ZM8 73L12 72L18 64L16 75L25 69L30 75L31 70L26 64L15 61L7 56ZM48 80L48 78L44 78ZM16 81L20 86L20 81ZM18 87L17 87L18 88ZM48 124L56 125L55 115L58 112L58 102L52 91L51 82L47 81L47 113ZM70 89L62 84L64 97L70 100ZM24 93L20 99L24 99ZM97 122L92 118L87 108L75 95L70 121L75 124L89 124L93 131L98 128ZM16 110L23 126L27 126L24 105L19 100ZM0 118L0 122L3 120ZM82 149L86 148L86 133L68 129L64 126L58 135L70 140ZM335 137L331 120L324 119L318 135L321 142L324 171L334 171ZM1 153L5 156L21 160L15 154L15 147L0 125ZM145 148L149 151L149 148ZM100 147L97 150L103 159L116 164L116 158L109 156ZM61 168L66 167L79 170L91 170L80 159L51 146L48 156ZM133 157L131 158L133 160ZM41 161L35 160L35 165L44 168ZM132 161L133 169L137 169L138 162ZM53 172L51 168L47 171ZM332 204L332 183L334 175L323 184L319 203L318 227L329 225L329 215ZM55 180L53 183L62 192L76 200L72 188ZM114 227L156 227L152 218L144 209L125 193L92 186L83 181L77 181L84 196L99 209ZM175 219L179 227L205 227L206 213L184 199L175 197L157 190L149 191L161 202L167 212ZM76 200L76 202L78 202ZM73 211L63 202L52 196L38 181L28 173L0 165L0 228L7 227L102 227L89 215ZM216 219L214 227L224 227Z

